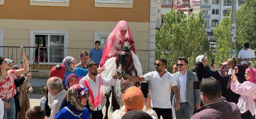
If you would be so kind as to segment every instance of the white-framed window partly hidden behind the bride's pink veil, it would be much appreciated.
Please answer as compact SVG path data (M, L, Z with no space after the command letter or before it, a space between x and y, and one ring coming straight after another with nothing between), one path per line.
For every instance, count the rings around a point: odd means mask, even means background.
M110 35L110 31L94 31L94 42L100 41L100 49L104 50L107 37ZM93 44L94 44L93 42Z

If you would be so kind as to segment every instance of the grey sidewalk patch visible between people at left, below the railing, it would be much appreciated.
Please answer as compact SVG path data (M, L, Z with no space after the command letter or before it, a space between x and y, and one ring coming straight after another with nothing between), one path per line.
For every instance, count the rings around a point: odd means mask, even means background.
M46 86L46 81L48 79L29 79L29 83L33 88L33 93L40 93L43 91L43 87Z

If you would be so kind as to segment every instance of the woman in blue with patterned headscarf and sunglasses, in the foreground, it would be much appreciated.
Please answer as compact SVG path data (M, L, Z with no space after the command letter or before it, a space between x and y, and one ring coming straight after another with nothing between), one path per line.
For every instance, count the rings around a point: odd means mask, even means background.
M72 85L66 95L68 105L54 119L90 119L89 110L85 108L90 97L89 89L81 84Z

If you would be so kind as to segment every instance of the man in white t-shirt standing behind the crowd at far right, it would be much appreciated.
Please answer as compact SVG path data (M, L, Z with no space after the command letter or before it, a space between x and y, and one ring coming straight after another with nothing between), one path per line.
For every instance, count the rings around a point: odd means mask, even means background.
M249 49L249 47L250 44L248 42L244 43L244 49L239 51L237 59L241 61L241 64L244 64L244 62L250 62L253 66L252 61L254 61L255 55L254 51Z

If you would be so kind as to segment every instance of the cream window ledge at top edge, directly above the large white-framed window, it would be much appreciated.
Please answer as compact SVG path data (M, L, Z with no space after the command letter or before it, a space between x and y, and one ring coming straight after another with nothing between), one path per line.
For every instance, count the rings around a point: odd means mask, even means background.
M69 0L30 0L30 5L35 6L69 6Z

